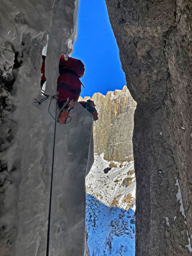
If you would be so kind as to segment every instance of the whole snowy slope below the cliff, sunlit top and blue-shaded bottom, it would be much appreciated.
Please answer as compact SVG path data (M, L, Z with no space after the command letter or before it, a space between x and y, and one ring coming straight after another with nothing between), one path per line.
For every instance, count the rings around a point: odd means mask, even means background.
M111 166L111 170L106 169ZM133 162L95 155L86 177L86 223L90 256L134 255L136 181Z

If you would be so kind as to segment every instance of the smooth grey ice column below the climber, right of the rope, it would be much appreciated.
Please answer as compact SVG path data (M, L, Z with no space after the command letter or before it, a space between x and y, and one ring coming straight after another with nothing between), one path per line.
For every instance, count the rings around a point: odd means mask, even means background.
M92 115L80 104L71 122L56 130L51 255L83 255L85 235L85 176L94 161Z

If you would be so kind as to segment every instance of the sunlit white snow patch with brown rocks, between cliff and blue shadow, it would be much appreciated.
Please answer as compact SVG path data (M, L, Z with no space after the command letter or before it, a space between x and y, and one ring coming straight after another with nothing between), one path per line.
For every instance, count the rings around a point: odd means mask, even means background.
M108 173L104 170L111 167ZM136 180L131 162L108 162L102 155L95 155L95 162L86 177L86 192L109 207L124 210L136 209Z

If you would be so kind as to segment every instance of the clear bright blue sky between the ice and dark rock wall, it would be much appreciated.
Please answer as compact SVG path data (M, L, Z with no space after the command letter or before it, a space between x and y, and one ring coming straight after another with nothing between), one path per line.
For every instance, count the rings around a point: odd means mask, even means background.
M72 57L83 61L86 72L81 96L122 89L126 84L121 69L117 42L112 32L105 0L81 0L78 12L78 36Z

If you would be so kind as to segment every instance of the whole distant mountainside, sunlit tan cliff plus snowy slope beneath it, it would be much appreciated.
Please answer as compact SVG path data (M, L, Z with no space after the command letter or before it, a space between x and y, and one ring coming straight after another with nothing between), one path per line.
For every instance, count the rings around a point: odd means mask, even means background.
M136 102L126 86L106 96L95 93L92 99L99 120L94 125L95 161L86 176L90 255L133 255L136 179L131 160Z

